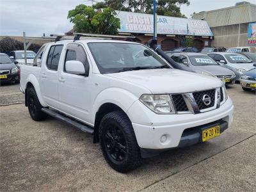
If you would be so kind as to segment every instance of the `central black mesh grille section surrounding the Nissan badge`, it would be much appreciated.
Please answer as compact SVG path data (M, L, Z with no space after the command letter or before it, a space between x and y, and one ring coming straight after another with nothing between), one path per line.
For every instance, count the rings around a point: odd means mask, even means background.
M203 102L204 95L209 95L211 97L211 102L210 102L210 104L208 106L205 105L204 102ZM214 103L215 103L215 90L207 90L207 91L202 91L202 92L194 92L193 93L193 97L195 98L196 104L198 105L198 108L200 110L211 108L211 107L214 106Z

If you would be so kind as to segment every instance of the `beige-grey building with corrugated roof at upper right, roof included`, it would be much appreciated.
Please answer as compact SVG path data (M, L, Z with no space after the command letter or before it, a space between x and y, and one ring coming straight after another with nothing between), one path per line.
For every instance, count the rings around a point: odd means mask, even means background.
M251 46L248 42L248 27L256 22L256 4L241 2L228 8L196 13L193 19L207 21L214 35L212 46Z

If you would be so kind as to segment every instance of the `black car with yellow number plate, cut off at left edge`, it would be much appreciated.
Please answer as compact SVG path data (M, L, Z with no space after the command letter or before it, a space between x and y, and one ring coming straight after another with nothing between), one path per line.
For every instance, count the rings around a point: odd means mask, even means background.
M12 81L19 83L19 68L7 54L0 53L0 83Z

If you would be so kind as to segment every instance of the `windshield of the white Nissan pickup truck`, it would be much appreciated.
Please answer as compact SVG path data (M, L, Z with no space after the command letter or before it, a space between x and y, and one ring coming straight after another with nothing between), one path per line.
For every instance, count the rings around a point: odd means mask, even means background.
M100 73L170 68L157 54L140 44L88 43Z

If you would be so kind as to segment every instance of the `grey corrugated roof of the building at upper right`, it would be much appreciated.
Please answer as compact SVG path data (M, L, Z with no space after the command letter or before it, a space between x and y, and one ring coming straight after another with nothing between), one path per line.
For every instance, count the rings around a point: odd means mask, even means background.
M209 12L200 12L193 19L206 20L210 28L256 21L256 4L247 3Z

